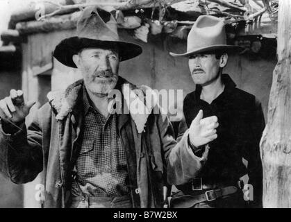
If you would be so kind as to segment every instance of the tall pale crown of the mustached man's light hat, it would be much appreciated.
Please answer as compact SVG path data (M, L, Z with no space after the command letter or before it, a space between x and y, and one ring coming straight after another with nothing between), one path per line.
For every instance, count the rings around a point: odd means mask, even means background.
M210 15L199 16L188 35L187 51L217 45L226 45L224 22Z

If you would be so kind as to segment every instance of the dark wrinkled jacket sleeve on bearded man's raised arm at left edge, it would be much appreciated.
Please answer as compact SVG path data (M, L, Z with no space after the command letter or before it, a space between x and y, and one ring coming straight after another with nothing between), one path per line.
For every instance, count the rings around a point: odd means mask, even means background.
M44 109L44 108L41 108ZM17 184L34 180L42 171L42 110L26 129L0 126L0 171Z

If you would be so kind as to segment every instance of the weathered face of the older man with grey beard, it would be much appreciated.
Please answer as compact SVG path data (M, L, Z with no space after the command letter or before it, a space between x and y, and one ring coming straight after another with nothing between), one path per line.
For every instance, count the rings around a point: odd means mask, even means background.
M93 94L108 94L117 83L119 56L110 49L88 48L73 56L84 78L85 87Z

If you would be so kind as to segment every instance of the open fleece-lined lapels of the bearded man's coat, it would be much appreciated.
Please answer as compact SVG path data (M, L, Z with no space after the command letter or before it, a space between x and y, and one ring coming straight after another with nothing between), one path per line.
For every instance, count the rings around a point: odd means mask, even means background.
M124 146L126 148L126 154L128 155L128 167L132 167L134 176L132 181L132 187L138 187L140 190L140 207L147 207L148 201L148 185L144 184L148 178L148 164L142 151L142 132L144 131L145 123L151 114L151 111L155 105L157 105L157 96L149 87L137 88L134 85L129 84L126 80L119 77L119 83L122 83L122 93L128 93L129 99L124 99L124 110L128 111L126 114L119 114L117 121L117 128L119 130L120 137L124 139ZM124 85L128 83L128 91L124 91ZM76 162L79 149L76 144L81 136L81 130L83 128L83 101L82 93L83 80L78 80L76 83L69 85L65 92L50 92L47 95L53 112L56 114L56 120L59 127L59 155L60 155L60 173L63 182L63 196L62 202L65 205L65 186L69 185L67 181L70 179L71 170ZM135 94L133 89L139 89L144 93L145 89L149 89L148 92L153 93L153 101L147 103L147 96L140 98L138 94ZM146 112L137 113L133 110L132 102L138 103L140 108L146 110ZM129 120L131 120L129 122ZM129 128L128 128L129 127ZM80 146L81 147L81 146ZM134 154L134 155L133 155ZM70 180L69 180L70 181ZM137 186L135 186L136 181ZM133 190L132 190L133 191ZM134 190L136 192L136 190ZM137 194L137 193L135 193ZM135 195L136 196L136 195Z

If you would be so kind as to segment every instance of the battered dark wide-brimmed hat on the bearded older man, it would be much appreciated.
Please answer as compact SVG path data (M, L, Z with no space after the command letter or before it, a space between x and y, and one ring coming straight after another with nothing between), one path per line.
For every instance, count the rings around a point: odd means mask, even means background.
M120 61L129 60L142 53L142 47L119 40L117 22L110 12L97 7L83 10L77 22L76 36L61 41L53 56L63 65L76 68L72 56L81 49L101 47L118 49Z

